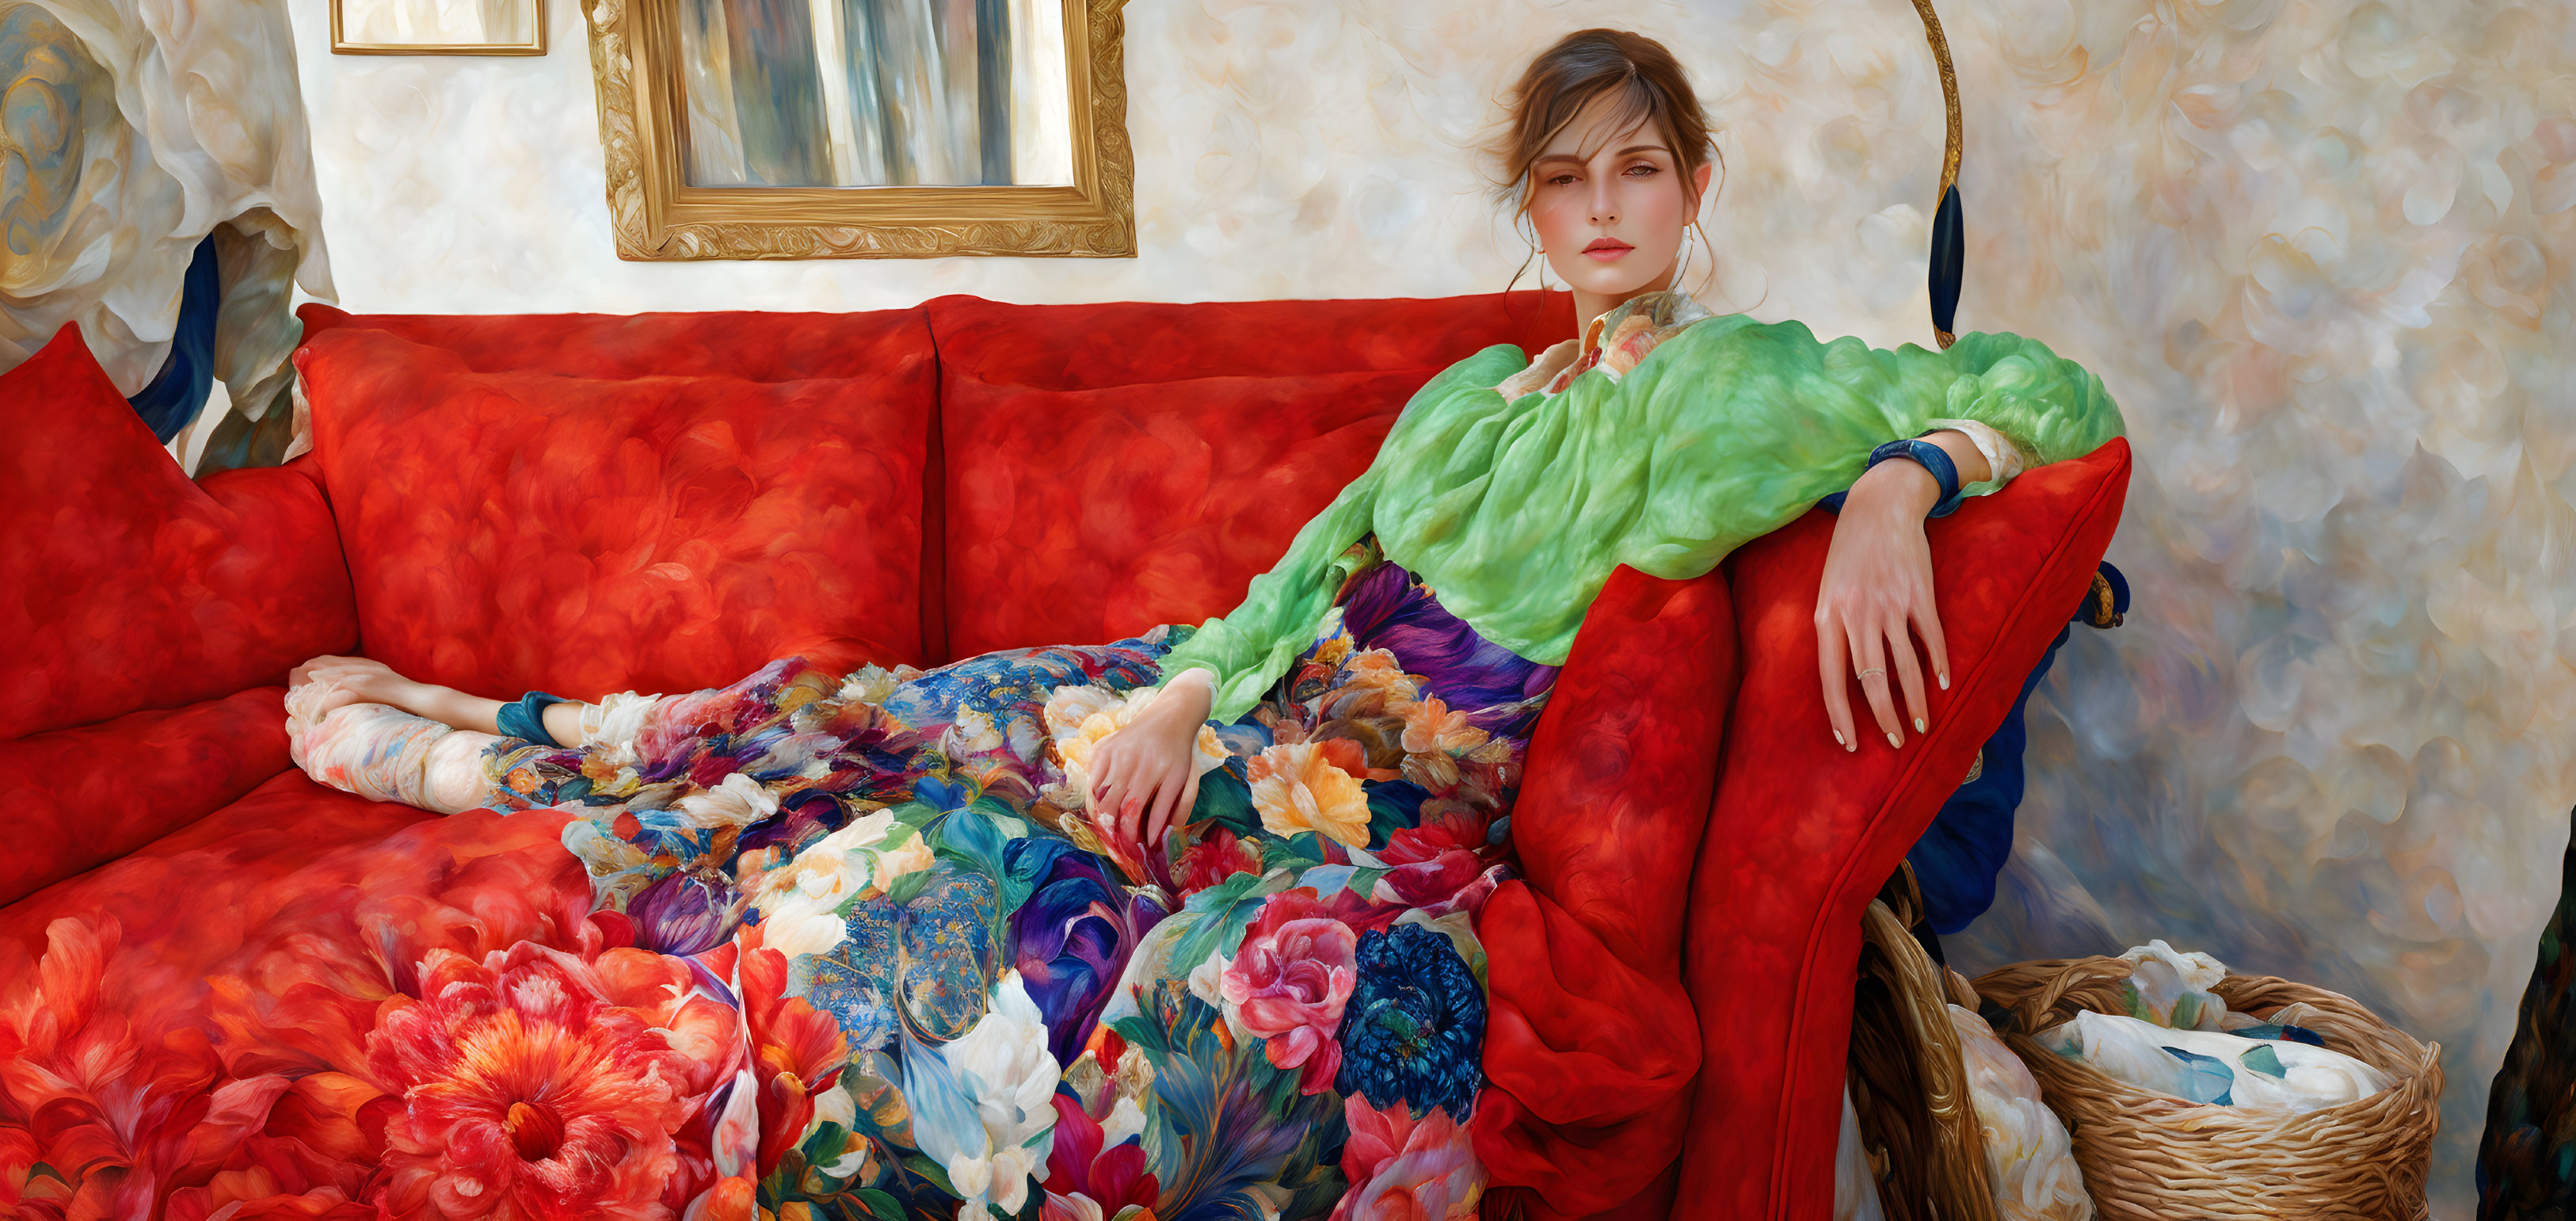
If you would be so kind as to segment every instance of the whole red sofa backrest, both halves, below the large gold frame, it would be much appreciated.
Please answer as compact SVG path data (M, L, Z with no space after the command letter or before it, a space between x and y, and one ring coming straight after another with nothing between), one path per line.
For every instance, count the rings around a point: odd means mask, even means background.
M1538 291L301 317L368 657L577 698L721 685L796 652L935 665L1203 621L1368 466L1422 381L1574 327L1566 294ZM786 384L809 386L791 415ZM744 440L755 422L773 433ZM762 497L845 505L840 528L773 538L770 518L711 544Z

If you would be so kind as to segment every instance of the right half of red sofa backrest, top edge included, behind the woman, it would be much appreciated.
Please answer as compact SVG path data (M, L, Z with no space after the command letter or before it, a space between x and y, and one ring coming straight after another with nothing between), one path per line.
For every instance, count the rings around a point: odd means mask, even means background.
M948 657L1226 613L1440 368L1574 330L1535 291L925 309Z

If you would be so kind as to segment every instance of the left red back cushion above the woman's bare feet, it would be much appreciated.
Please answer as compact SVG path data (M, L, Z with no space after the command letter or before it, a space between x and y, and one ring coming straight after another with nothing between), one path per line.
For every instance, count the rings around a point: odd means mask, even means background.
M595 381L340 327L296 363L363 649L404 675L598 698L786 654L922 662L927 353L827 381Z

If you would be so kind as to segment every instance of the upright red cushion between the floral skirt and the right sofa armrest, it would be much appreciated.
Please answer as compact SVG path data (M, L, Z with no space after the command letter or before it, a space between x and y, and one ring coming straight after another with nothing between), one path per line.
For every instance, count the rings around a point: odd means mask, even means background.
M1476 920L1489 1208L1659 1216L1669 1200L1700 1069L1682 925L1734 688L1721 574L1610 577L1530 739L1512 806L1525 881Z

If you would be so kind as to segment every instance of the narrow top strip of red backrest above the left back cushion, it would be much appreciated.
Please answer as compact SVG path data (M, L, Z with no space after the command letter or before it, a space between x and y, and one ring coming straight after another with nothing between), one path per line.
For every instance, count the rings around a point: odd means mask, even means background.
M477 374L729 376L742 381L868 379L930 355L920 309L868 314L350 314L296 309L304 337L384 330L446 348Z

